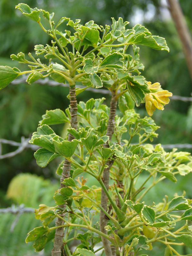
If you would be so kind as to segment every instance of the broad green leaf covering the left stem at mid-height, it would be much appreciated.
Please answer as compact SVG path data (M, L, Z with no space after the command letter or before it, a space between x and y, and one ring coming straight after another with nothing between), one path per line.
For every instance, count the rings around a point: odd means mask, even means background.
M79 144L79 141L76 139L72 141L63 140L62 142L53 140L55 151L59 155L65 156L66 158L73 156L78 144Z

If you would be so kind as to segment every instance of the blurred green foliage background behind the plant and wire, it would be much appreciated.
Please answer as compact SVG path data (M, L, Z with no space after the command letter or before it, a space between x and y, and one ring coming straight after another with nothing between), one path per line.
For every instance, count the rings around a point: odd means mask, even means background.
M0 0L0 65L16 66L10 59L12 53L33 52L35 44L50 43L48 35L42 33L41 28L34 21L27 19L15 10L19 2ZM145 66L143 76L152 83L160 82L163 89L173 95L191 96L191 79L182 52L180 39L171 20L166 1L163 0L28 0L23 1L32 8L42 8L55 12L55 21L61 17L81 19L82 23L94 20L98 25L111 24L111 17L130 21L130 26L142 23L153 35L165 37L170 53L158 52L150 48L140 47L140 59ZM192 1L180 0L180 5L192 34ZM36 130L38 121L46 109L68 107L68 88L51 87L38 84L10 85L0 93L0 138L20 141L21 136L30 137ZM84 92L77 100L106 97L99 92ZM137 108L141 116L147 115L144 105ZM164 111L156 110L153 116L159 129L159 137L154 143L192 143L192 106L190 102L171 100ZM56 132L62 134L66 127L58 125ZM15 150L14 147L3 145L2 154ZM183 151L187 151L185 148ZM38 204L52 204L53 191L59 186L59 177L55 175L53 162L41 169L36 165L31 149L25 149L21 154L12 158L0 160L0 207L8 207L12 203L25 204L27 207L38 207ZM20 173L32 173L17 176L18 183L13 183L7 189L13 177ZM35 176L36 175L36 176ZM41 178L40 178L40 177ZM192 198L192 176L183 177L177 184L166 181L159 184L146 198L157 201L167 194L173 196L175 191L182 194L186 190L187 196ZM15 178L16 179L16 178ZM23 181L24 180L24 181ZM23 186L24 183L27 186ZM88 181L92 182L92 181ZM15 184L15 185L14 185ZM21 188L22 189L19 189ZM28 196L22 196L28 195ZM12 214L0 215L0 255L19 256L37 255L31 244L24 240L29 230L38 225L33 214L25 213L18 218ZM17 220L18 218L18 220ZM17 220L15 222L15 219ZM16 224L14 224L14 222ZM14 225L13 225L14 224ZM39 255L50 255L52 244ZM182 253L186 253L186 249ZM162 248L157 248L155 256L163 255Z

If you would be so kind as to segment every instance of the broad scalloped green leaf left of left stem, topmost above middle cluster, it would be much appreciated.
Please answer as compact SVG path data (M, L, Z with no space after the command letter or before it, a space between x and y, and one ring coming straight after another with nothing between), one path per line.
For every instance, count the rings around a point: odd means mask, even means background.
M59 108L54 110L46 110L46 114L43 115L42 118L43 119L39 121L40 125L63 124L70 122L65 113Z

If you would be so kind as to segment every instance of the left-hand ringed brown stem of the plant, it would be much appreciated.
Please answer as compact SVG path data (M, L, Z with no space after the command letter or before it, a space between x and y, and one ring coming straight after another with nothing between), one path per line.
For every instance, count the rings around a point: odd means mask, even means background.
M69 90L70 94L70 114L71 114L71 127L74 129L77 129L77 100L76 100L76 91L75 91L75 86L72 88L70 87ZM69 133L68 135L68 141L73 140L74 137ZM67 179L70 177L70 169L71 169L71 164L67 159L65 159L65 162L63 164L63 171L62 175L60 178L60 188L65 187L65 185L62 184L62 181L64 179ZM59 205L60 208L65 210L66 205L62 204ZM60 214L61 217L64 217L64 213ZM64 224L64 221L60 218L57 218L55 225L57 226L62 226ZM64 229L63 227L61 228L56 228L55 231L55 239L54 239L54 245L52 249L52 256L61 256L61 251L62 251L62 246L63 246L63 236L64 236Z

